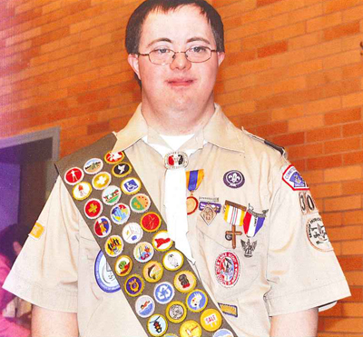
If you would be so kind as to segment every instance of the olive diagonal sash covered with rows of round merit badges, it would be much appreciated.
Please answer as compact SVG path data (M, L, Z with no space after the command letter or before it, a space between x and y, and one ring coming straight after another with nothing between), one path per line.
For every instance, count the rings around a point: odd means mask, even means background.
M228 332L237 337L175 249L127 155L111 152L115 142L114 134L108 134L56 164L102 250L97 259L108 264L108 273L112 270L147 335L212 337ZM113 283L114 291L119 287Z

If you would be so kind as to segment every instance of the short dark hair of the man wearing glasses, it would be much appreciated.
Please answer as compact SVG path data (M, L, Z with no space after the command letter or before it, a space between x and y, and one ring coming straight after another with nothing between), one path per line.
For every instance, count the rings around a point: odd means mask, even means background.
M142 34L142 25L147 15L152 11L160 10L163 13L175 10L184 5L194 5L201 9L201 14L205 15L211 24L211 31L214 35L218 52L224 52L224 29L221 22L221 15L213 6L204 0L146 0L139 5L132 15L126 27L125 45L128 54L139 53L139 44Z

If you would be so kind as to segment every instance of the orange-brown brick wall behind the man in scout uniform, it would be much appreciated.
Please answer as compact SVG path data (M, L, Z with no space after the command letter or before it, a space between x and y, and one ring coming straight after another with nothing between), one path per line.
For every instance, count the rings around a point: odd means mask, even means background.
M59 125L69 154L140 100L123 32L134 0L0 3L0 137ZM233 123L285 146L319 205L353 296L320 337L363 334L362 0L213 0L228 55L216 87Z

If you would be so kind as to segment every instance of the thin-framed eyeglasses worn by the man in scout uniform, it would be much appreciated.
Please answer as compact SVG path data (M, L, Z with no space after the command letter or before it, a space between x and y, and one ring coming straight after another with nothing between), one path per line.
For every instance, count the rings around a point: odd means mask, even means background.
M195 64L200 64L202 62L208 61L211 58L211 53L217 53L215 49L205 47L202 45L196 45L185 52L174 52L172 49L168 48L157 48L152 50L149 54L138 53L140 56L149 56L149 60L152 64L171 64L177 54L185 54L185 57Z

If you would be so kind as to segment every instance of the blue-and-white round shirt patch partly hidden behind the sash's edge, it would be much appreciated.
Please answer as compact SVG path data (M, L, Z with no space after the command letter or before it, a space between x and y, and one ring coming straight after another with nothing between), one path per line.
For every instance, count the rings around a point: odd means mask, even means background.
M94 262L94 276L103 292L118 292L121 289L102 251L98 253Z

